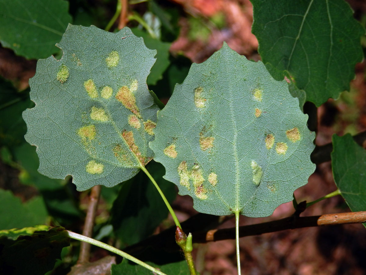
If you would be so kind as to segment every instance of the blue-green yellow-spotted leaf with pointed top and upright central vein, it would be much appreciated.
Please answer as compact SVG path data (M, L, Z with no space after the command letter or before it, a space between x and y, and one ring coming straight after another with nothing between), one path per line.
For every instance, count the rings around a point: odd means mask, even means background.
M306 121L285 81L224 43L176 85L150 147L199 212L268 216L314 172Z

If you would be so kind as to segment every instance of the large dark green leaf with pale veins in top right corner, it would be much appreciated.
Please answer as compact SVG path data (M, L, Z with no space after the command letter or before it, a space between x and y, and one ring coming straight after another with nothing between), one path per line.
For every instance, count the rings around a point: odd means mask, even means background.
M292 77L306 100L320 106L349 90L363 52L363 27L344 0L251 0L252 32L273 77ZM276 72L277 71L277 72ZM287 71L287 73L285 72Z

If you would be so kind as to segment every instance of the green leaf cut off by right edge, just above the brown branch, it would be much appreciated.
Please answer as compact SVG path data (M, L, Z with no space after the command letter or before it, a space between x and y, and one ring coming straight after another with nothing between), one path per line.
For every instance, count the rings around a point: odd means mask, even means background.
M334 181L352 211L365 211L366 151L349 134L333 135L332 140Z

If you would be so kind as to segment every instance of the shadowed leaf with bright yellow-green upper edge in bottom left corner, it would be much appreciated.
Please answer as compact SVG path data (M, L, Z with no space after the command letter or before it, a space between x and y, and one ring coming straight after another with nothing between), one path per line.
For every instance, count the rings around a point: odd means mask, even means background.
M70 238L63 227L45 225L0 231L0 274L44 275Z

